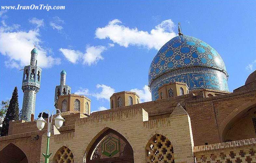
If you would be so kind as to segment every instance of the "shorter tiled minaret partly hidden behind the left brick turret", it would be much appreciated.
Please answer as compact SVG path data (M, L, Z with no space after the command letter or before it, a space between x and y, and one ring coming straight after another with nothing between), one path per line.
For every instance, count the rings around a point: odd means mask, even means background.
M54 96L54 106L55 107L57 107L56 104L57 104L58 97L60 95L66 95L66 94L71 93L70 86L66 85L66 75L67 75L66 71L62 70L60 85L57 85L55 87L55 96Z

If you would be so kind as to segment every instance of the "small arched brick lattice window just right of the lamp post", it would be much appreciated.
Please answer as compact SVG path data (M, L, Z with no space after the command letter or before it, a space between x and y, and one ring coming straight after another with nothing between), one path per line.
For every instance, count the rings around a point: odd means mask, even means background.
M62 146L54 155L52 163L74 163L74 155L72 151L66 147Z

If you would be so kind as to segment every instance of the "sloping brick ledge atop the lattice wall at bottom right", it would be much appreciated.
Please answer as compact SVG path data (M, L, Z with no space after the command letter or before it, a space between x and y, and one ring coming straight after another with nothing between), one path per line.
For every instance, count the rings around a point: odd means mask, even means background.
M203 145L203 146L195 146L194 153L201 152L201 151L221 150L221 149L230 148L230 147L241 147L246 145L256 146L256 138L236 140L236 141L225 142L225 143L209 144L209 145Z

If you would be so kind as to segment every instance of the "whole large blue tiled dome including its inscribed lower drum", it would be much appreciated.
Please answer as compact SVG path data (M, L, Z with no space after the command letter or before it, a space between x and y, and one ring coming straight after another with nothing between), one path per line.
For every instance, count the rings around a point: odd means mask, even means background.
M180 34L169 40L156 54L149 69L152 99L168 82L185 82L190 90L228 91L227 72L219 53L198 38Z

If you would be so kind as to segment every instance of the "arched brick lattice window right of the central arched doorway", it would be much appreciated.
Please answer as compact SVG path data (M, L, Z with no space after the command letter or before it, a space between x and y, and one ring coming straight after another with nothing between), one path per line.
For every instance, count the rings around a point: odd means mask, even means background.
M174 163L173 145L170 140L161 135L155 134L149 139L145 147L146 163L162 162Z

